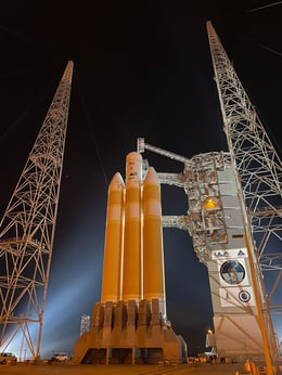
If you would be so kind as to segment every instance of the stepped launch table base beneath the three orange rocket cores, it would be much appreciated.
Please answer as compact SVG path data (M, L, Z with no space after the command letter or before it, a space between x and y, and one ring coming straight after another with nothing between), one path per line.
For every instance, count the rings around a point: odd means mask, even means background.
M143 299L97 302L92 326L75 344L74 363L157 363L169 359L175 363L187 360L187 345L175 334L170 322L159 319L158 300L152 309Z

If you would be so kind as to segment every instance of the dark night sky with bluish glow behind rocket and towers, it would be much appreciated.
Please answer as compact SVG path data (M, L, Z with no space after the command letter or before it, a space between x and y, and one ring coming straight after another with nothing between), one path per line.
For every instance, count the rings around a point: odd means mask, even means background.
M227 151L206 33L211 21L281 155L282 2L10 1L1 7L0 214L68 60L74 80L41 355L73 352L100 299L107 184L137 138L192 157ZM182 165L146 152L158 172ZM163 186L163 214L185 215ZM207 270L189 234L164 230L167 312L190 352L213 326Z

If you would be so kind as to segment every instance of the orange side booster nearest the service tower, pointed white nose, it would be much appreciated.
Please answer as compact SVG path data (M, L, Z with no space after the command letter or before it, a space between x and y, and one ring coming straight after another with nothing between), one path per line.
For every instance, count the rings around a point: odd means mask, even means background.
M161 185L153 167L143 183L143 269L144 299L158 298L166 318Z

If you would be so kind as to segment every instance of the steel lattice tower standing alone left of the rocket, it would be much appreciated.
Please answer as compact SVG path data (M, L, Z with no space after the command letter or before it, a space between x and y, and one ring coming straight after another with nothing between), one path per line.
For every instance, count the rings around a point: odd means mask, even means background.
M40 354L72 76L68 62L0 223L0 345L20 337L20 360Z

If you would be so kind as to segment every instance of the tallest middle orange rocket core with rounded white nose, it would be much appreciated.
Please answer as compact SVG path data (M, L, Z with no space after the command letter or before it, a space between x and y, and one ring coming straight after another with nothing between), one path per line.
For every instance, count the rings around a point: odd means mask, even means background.
M124 301L139 302L142 296L141 181L142 156L131 152L126 158Z

